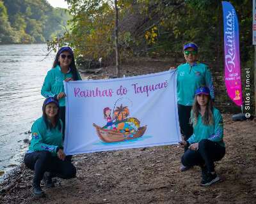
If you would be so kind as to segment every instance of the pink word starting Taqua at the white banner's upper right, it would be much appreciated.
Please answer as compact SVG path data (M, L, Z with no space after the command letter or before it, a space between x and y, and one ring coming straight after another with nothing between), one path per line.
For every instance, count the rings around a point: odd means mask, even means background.
M168 82L165 81L165 82L161 82L158 84L150 84L150 85L143 85L143 86L138 85L138 83L131 84L131 85L134 89L135 94L141 94L141 93L145 92L148 97L150 92L168 87Z

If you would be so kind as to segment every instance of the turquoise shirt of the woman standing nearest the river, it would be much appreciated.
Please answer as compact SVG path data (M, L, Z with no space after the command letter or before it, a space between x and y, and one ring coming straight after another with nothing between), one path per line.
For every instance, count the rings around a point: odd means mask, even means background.
M78 72L77 75L78 80L82 80ZM60 94L60 92L64 92L63 81L70 77L73 77L70 70L68 70L68 72L65 74L61 72L61 68L58 65L55 68L52 68L50 71L48 71L44 79L44 84L41 89L42 96L45 98L54 97ZM59 102L60 106L65 106L65 97L61 98Z

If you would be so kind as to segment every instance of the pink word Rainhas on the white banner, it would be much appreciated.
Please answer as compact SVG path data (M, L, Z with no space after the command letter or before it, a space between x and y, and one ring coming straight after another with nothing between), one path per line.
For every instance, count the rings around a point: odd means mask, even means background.
M88 98L88 97L112 97L113 96L112 89L104 89L100 90L98 87L93 90L81 90L78 87L74 88L74 96L77 98Z

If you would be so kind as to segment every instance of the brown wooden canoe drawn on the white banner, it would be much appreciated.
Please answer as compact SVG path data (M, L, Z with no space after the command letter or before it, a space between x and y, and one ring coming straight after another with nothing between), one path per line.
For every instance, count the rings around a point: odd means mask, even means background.
M122 142L125 140L133 140L135 138L140 138L145 133L147 126L143 126L138 128L136 132L133 131L125 131L122 132L118 129L104 129L100 128L93 123L93 126L96 128L97 135L99 136L100 140L103 142Z

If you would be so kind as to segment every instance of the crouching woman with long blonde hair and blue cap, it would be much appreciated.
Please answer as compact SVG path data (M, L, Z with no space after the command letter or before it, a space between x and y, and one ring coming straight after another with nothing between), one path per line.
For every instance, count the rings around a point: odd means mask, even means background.
M223 120L218 109L214 108L208 87L199 87L195 92L195 101L191 110L193 135L180 142L189 149L182 156L184 166L201 167L201 186L209 186L220 180L214 170L214 161L220 161L225 155L223 142Z

